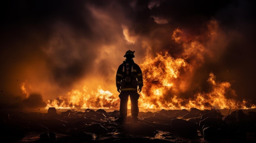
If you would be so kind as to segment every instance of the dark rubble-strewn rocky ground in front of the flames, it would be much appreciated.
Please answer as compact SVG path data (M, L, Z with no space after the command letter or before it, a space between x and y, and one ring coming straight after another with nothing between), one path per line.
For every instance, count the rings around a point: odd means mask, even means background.
M255 143L256 112L236 110L159 110L139 112L134 122L119 111L49 108L40 112L2 112L2 141L8 143Z

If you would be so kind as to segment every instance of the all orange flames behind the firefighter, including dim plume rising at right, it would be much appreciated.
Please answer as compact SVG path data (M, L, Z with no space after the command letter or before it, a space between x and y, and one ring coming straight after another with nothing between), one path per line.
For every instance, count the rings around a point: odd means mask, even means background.
M200 37L186 35L181 29L175 29L170 39L181 45L183 53L174 58L168 51L162 51L154 58L146 57L144 62L139 64L144 78L144 86L139 97L140 109L198 108L203 110L211 109L213 106L220 109L256 108L254 104L250 104L245 99L236 100L238 95L231 88L231 84L217 81L218 77L212 72L205 81L209 87L207 91L200 91L200 87L197 87L198 89L191 90L195 92L187 92L194 85L192 79L197 78L195 72L204 63L204 57L216 56L214 55L216 49L211 47L214 47L216 38L220 37L221 33L218 31L216 21L209 22L207 27L208 31ZM206 43L200 42L202 40ZM115 86L115 83L112 86ZM21 85L21 89L23 93L27 93L24 84ZM188 93L190 95L184 96ZM90 91L84 85L82 89L73 89L56 99L47 99L46 103L46 108L118 109L119 97L117 91L104 90L100 85L97 91ZM128 108L130 108L130 103L128 103Z

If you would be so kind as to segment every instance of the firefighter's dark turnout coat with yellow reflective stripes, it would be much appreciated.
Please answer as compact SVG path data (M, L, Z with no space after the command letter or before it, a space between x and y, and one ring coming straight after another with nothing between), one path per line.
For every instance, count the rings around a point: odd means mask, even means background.
M117 69L117 87L122 91L137 91L137 87L143 86L140 67L132 61L124 61Z

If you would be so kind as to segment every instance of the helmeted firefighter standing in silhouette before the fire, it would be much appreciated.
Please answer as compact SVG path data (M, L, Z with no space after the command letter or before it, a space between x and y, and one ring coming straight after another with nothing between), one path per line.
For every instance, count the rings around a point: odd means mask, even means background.
M141 92L143 81L141 69L132 59L135 57L134 52L135 51L130 50L126 52L124 55L126 60L118 67L116 75L117 91L120 93L120 120L123 123L126 121L127 117L127 103L129 95L131 101L132 119L134 122L138 121L138 92Z

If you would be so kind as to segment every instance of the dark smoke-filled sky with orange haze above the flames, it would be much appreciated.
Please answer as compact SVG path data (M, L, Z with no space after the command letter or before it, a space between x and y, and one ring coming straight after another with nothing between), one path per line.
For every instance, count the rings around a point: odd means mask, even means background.
M190 85L169 94L188 99L209 92L213 73L251 107L255 6L254 0L9 0L0 6L0 107L44 108L83 85L118 98L116 70L129 49L141 66L157 53L184 59L191 73L175 83Z

